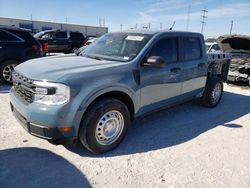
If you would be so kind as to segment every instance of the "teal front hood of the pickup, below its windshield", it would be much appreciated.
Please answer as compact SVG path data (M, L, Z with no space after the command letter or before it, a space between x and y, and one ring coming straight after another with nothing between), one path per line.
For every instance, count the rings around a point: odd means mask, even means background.
M58 81L64 76L98 71L124 65L124 62L95 60L76 55L59 55L26 61L15 71L33 80ZM103 71L100 72L103 72Z

